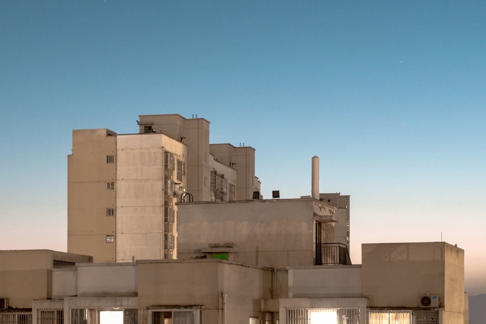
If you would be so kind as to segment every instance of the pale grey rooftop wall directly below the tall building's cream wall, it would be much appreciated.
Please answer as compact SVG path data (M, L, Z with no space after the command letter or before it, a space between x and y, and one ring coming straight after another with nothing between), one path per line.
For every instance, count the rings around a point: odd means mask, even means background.
M79 297L137 296L137 264L78 264L77 268Z

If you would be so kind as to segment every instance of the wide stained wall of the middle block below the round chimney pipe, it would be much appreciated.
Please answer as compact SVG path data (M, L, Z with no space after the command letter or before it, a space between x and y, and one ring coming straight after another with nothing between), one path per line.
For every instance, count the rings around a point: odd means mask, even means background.
M220 244L233 247L233 261L273 268L313 265L314 220L335 220L315 199L180 203L178 211L179 259Z

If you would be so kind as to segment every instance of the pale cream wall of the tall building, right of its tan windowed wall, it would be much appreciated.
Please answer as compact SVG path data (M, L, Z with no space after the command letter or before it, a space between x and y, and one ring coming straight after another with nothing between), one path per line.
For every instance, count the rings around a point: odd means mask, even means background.
M186 145L166 135L120 135L117 144L117 262L162 259L164 152L185 162ZM177 181L173 175L173 182ZM175 203L176 197L172 198ZM174 204L174 210L177 207ZM176 236L176 235L174 235Z

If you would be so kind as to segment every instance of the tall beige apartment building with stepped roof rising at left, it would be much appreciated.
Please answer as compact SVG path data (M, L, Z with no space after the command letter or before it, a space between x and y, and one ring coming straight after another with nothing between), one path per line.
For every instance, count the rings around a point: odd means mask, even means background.
M209 122L140 115L139 133L72 133L68 252L95 262L173 259L177 201L251 199L255 149L209 144Z

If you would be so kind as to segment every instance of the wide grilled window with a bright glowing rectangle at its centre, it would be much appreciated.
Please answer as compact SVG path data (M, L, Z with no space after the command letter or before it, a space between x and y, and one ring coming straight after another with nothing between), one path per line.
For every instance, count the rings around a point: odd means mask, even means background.
M286 324L358 323L359 307L286 308Z

